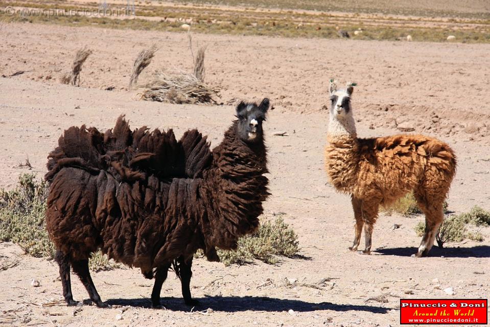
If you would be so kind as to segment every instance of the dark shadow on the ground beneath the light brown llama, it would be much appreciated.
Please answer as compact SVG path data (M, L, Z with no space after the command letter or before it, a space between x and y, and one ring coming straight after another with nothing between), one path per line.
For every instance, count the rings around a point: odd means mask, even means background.
M418 248L416 247L394 247L377 249L373 252L382 255L411 256L417 250ZM434 245L429 252L429 257L431 256L444 256L445 258L490 258L490 246L478 245L473 247L440 248Z

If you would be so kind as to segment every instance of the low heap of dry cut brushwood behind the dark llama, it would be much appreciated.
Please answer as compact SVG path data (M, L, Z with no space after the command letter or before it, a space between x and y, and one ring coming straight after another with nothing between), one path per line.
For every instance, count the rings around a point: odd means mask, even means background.
M141 99L147 101L218 104L214 97L219 89L200 81L194 74L183 71L155 72L153 81L146 85Z

